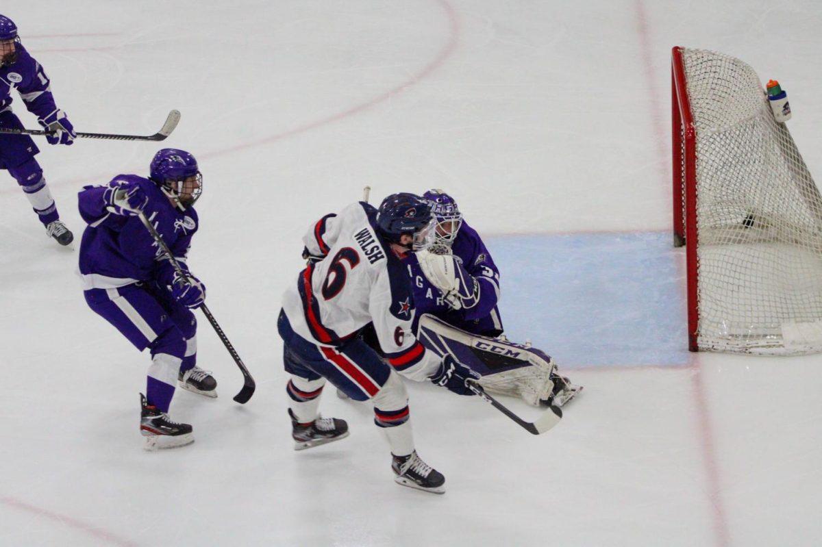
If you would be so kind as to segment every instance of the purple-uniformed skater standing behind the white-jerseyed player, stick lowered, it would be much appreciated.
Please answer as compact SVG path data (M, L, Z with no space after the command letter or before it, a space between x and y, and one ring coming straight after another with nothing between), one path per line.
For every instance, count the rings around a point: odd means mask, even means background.
M217 382L196 366L196 319L191 309L205 301L205 286L192 274L182 279L156 245L139 214L163 237L182 269L199 227L194 203L202 176L192 154L161 149L148 178L118 175L78 195L88 226L80 244L85 301L134 346L151 351L141 434L145 448L191 443L192 426L169 420L175 384L216 397Z

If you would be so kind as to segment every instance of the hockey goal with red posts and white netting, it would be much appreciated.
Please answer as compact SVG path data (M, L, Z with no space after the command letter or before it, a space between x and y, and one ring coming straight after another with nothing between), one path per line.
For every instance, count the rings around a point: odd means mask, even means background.
M822 197L759 76L672 53L673 218L691 351L822 351Z

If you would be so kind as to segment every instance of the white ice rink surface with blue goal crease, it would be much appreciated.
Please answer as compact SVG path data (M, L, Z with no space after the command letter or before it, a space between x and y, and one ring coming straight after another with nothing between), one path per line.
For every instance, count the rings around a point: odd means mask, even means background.
M8 0L0 12L78 131L153 133L200 160L189 264L252 374L201 315L219 398L178 393L196 442L141 449L149 356L91 312L76 248L0 173L0 545L822 543L822 356L686 352L670 246L673 45L777 78L822 177L819 2ZM36 127L13 95L15 112ZM76 193L147 172L155 143L39 140L79 244ZM511 338L584 393L539 437L409 383L446 494L400 488L367 405L326 389L339 443L294 452L279 298L299 238L359 199L441 187L501 269ZM536 409L513 399L524 416Z

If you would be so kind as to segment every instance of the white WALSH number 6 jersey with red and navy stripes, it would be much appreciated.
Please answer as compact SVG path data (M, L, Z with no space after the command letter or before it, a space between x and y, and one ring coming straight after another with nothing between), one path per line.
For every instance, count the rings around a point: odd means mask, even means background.
M302 238L324 259L299 274L283 296L285 315L309 341L339 346L369 323L395 370L423 380L440 358L413 335L413 291L408 270L377 236L376 209L364 202L321 218Z

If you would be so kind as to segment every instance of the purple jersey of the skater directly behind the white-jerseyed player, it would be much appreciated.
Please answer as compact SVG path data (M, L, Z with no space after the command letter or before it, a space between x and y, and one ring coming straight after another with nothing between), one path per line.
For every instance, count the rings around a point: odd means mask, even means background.
M187 269L188 247L199 223L196 211L181 211L154 182L137 175L118 175L112 183L141 186L148 203L143 214L154 225L174 258ZM80 214L88 226L80 244L80 274L85 289L122 287L137 281L171 284L174 270L150 232L136 216L110 213L104 191L108 185L85 186L77 195Z

